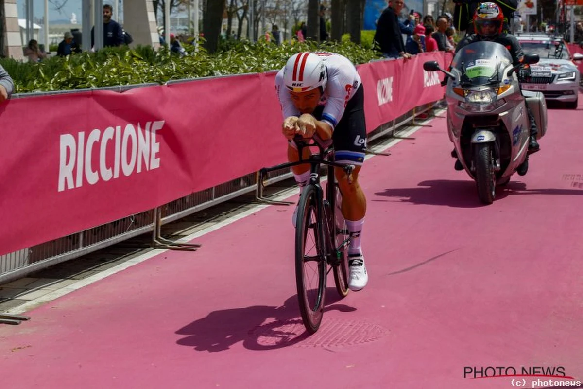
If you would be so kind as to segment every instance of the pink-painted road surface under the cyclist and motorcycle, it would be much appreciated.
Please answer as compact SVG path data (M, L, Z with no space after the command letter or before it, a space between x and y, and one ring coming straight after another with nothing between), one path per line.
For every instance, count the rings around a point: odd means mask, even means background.
M442 118L367 160L370 282L339 300L330 276L312 337L293 208L269 206L199 237L196 253L166 251L1 327L0 386L512 386L464 378L465 366L562 366L583 380L583 188L564 178L583 174L580 101L549 110L531 170L489 206L454 170Z

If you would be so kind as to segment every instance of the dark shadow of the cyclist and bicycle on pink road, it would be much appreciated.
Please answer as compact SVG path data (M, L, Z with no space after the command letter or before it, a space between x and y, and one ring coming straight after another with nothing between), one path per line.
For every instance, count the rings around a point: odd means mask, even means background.
M345 304L336 304L339 300L336 289L327 288L328 304L324 312L356 310ZM289 297L280 307L250 306L214 311L175 333L187 335L179 339L177 344L208 352L224 351L241 341L245 348L251 350L276 349L308 338L296 295Z

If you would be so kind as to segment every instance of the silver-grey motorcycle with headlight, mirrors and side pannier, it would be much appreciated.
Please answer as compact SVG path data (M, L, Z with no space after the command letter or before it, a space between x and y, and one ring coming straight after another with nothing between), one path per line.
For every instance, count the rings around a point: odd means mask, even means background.
M530 121L526 104L535 116L540 139L547 127L545 96L521 91L517 72L523 65L536 64L539 56L525 54L521 65L513 66L504 45L479 41L461 48L449 71L437 61L423 64L427 72L447 75L447 128L449 140L463 169L476 181L477 194L491 204L496 186L505 185L512 174L528 171Z

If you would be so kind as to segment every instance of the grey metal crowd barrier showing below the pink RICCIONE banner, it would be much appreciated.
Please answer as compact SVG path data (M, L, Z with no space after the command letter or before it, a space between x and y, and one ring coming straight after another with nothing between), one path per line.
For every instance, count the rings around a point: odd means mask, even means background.
M145 85L117 86L100 89L118 90L122 92L123 90L142 86ZM79 92L79 90L75 92ZM40 94L57 93L59 92L46 92L34 95L39 96ZM27 93L26 95L31 96L33 94ZM21 94L20 97L24 97L24 94ZM373 142L382 136L395 135L396 130L403 125L419 125L415 122L417 115L432 111L435 104L431 103L423 107L413 108L413 110L401 115L392 122L375 129L368 135L369 142ZM291 177L292 174L289 169L273 171L269 173L266 184L276 183ZM155 209L136 213L126 218L114 220L113 222L47 241L33 247L23 248L13 253L0 255L0 284L22 278L35 271L81 257L101 248L112 246L113 244L149 232L152 233L151 247L196 250L199 247L196 244L178 244L162 238L160 236L160 227L166 223L202 211L210 206L256 191L257 180L258 173L250 173L243 177L237 177L234 180L216 185L215 187L175 199Z

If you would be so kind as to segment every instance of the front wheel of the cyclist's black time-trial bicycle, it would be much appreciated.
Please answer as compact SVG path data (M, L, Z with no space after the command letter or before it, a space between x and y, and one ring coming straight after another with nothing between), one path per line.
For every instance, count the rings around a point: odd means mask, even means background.
M324 313L326 253L321 202L314 185L301 194L296 220L296 286L301 318L310 333L318 331Z

